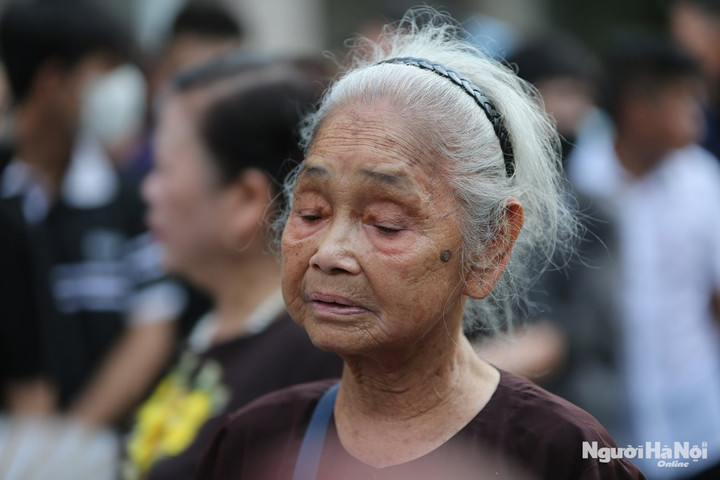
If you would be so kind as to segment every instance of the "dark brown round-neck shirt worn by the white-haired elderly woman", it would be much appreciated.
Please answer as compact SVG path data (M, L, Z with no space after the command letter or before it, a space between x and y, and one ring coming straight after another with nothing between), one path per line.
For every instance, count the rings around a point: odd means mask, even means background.
M310 416L331 384L291 387L232 415L215 436L196 478L290 480ZM583 441L615 446L585 411L501 372L497 390L470 423L436 450L401 465L378 469L355 459L343 448L331 421L318 480L645 479L626 460L582 458Z

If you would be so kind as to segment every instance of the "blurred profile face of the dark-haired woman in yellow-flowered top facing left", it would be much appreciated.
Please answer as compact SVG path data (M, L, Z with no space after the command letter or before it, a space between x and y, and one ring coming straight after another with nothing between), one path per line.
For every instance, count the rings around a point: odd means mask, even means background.
M217 185L199 138L199 110L182 95L165 104L155 137L155 165L143 185L148 223L164 246L167 267L193 276L217 262L229 215L227 192Z

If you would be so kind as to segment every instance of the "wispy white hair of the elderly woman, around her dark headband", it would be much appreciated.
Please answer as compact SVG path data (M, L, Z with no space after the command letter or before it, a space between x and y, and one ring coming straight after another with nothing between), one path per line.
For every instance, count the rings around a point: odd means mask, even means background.
M507 200L520 201L525 223L502 278L488 298L470 299L465 308L466 333L494 333L525 311L527 286L554 252L572 250L576 221L564 194L559 138L536 90L461 34L450 17L423 7L386 27L378 42L359 39L350 53L350 67L325 93L317 112L306 118L302 137L307 150L328 114L343 106L381 99L400 112L426 139L419 147L443 159L433 167L454 189L465 267L482 269L488 260L483 257L486 246L497 239L506 220ZM397 57L440 63L484 92L509 133L512 177L506 173L498 137L473 97L434 72L381 64ZM295 179L291 175L286 182L288 205Z

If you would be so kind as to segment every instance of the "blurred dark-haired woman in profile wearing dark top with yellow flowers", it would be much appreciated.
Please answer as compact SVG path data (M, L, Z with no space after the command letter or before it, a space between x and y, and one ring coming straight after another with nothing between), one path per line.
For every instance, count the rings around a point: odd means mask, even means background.
M163 98L143 188L149 222L168 268L209 292L214 310L141 405L125 478L192 478L223 414L340 374L340 359L289 317L268 248L279 185L302 158L300 113L321 91L290 61L236 53L181 74Z

